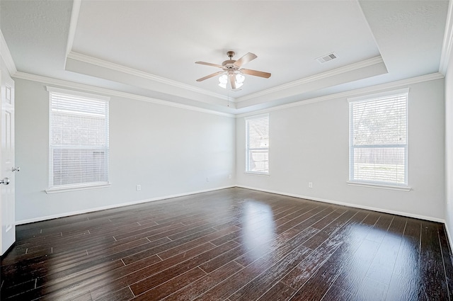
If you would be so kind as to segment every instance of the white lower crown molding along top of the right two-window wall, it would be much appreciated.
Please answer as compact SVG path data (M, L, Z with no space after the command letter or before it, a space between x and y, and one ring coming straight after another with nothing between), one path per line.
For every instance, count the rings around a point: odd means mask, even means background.
M409 86L411 84L418 84L423 81L433 81L435 79L443 79L444 77L445 76L443 74L436 72L436 73L427 74L427 75L423 75L423 76L412 77L411 79L401 79L400 81L392 81L392 82L386 83L386 84L368 86L366 88L355 89L355 90L350 90L350 91L345 91L345 92L340 92L340 93L334 93L334 94L330 94L330 95L326 95L326 96L310 98L310 99L307 99L304 101L297 101L295 103L287 103L287 104L281 105L281 106L266 108L263 110L256 110L256 111L249 112L249 113L237 114L236 118L243 118L243 117L247 117L250 115L269 113L274 110L283 110L285 108L294 108L297 106L305 106L310 103L319 103L321 101L330 101L332 99L337 99L337 98L350 98L352 96L361 96L361 95L367 94L367 93L376 93L377 91L382 91L382 90L386 90L386 89L395 89L395 88L401 87L401 86Z

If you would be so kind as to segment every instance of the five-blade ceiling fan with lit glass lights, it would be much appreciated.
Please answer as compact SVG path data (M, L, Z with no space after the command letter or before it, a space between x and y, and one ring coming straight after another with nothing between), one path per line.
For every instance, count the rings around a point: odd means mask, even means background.
M201 79L197 79L197 81L204 81L205 79L210 79L211 77L220 75L219 76L219 86L226 89L226 84L229 81L231 84L231 89L233 89L233 91L238 91L239 88L243 85L243 81L245 79L245 76L243 76L243 74L260 76L260 77L264 77L265 79L268 79L270 77L270 73L268 73L268 72L261 72L261 71L257 71L257 70L241 68L244 64L247 64L251 60L256 59L257 56L254 55L253 53L248 52L246 55L244 55L237 61L233 59L233 57L235 55L234 51L226 52L226 55L228 55L229 59L222 62L221 65L207 63L207 62L195 62L195 64L205 64L207 66L212 66L212 67L217 67L217 68L222 69L222 71L207 75L205 77L202 77Z

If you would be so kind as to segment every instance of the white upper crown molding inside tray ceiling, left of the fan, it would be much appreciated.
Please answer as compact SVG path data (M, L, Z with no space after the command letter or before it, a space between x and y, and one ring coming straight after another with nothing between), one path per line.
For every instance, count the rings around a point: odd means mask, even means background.
M115 70L115 71L118 71L118 72L123 72L125 74L130 74L130 75L133 75L133 76L139 76L139 77L142 77L143 79L147 79L147 80L150 80L150 81L157 81L157 82L159 82L161 84L167 84L169 86L175 86L175 87L180 88L180 89L185 89L185 90L188 90L188 91L193 91L195 93L205 94L207 96L212 96L212 97L215 97L215 98L222 99L223 101L228 101L227 96L224 96L224 95L219 94L219 93L214 93L214 92L211 92L211 91L207 91L205 89L200 89L200 88L197 88L195 86L191 86L191 85L188 85L188 84L183 84L183 83L180 83L179 81L173 81L171 79L166 79L165 77L161 77L161 76L157 76L157 75L154 75L154 74L150 74L150 73L143 72L143 71L140 71L140 70L137 70L137 69L133 69L133 68L130 68L130 67L125 67L125 66L122 66L120 64L107 62L107 61L105 61L103 59L98 59L96 57L90 57L88 55L82 55L81 53L78 53L78 52L72 52L72 51L69 52L69 54L67 55L67 59L74 59L74 60L79 61L79 62L84 62L84 63L87 63L87 64L93 64L93 65L96 65L98 67L112 69L112 70ZM229 98L229 101L232 101L231 97Z

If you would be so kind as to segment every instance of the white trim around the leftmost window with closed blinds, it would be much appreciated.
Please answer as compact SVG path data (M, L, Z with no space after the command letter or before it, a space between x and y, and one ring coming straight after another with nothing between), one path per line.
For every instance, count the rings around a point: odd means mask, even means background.
M70 96L81 96L81 97L85 97L85 98L93 98L93 100L96 100L96 101L104 101L106 103L109 103L110 102L110 97L109 96L101 96L101 95L98 95L98 94L92 94L92 93L86 93L86 92L81 92L81 91L74 91L74 90L69 90L69 89L60 89L60 88L57 88L57 87L54 87L54 86L46 86L46 91L49 92L49 141L47 142L47 153L48 153L48 164L47 164L47 167L49 168L48 170L48 179L49 179L49 182L48 182L48 187L47 189L45 189L45 193L49 194L49 193L62 193L62 192L69 192L69 191L81 191L81 190L86 190L86 189L94 189L94 188L107 188L110 186L110 181L108 180L109 179L109 169L110 169L110 164L109 164L109 157L107 159L107 181L100 181L100 182L91 182L91 183L77 183L77 184L66 184L66 185L59 185L59 186L52 186L50 185L50 179L51 179L51 170L50 170L50 166L51 166L51 154L50 154L50 137L51 137L51 126L50 126L50 108L52 106L52 102L51 102L51 92L55 92L55 93L63 93L63 94L68 94ZM109 119L110 119L110 114L109 114L109 106L108 106L108 110L107 110L107 150L109 151L110 150L110 147L109 147L109 140L110 140L110 135L109 135Z

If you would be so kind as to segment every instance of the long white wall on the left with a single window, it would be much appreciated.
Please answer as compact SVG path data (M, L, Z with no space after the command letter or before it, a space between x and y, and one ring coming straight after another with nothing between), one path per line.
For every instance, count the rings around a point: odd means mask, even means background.
M18 223L235 183L234 118L112 97L111 186L46 194L49 94L45 84L15 81Z

